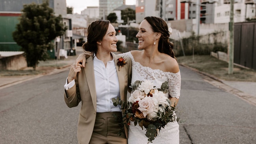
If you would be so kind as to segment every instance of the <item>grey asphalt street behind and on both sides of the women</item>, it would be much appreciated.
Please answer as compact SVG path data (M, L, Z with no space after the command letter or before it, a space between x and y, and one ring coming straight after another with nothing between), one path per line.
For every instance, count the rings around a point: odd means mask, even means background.
M254 144L256 107L180 66L180 144ZM0 144L77 144L80 105L64 102L69 70L0 89ZM157 142L155 142L157 143Z

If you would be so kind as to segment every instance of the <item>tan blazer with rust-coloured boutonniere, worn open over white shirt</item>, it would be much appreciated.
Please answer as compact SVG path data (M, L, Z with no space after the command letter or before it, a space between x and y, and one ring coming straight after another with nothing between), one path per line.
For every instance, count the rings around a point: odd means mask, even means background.
M115 65L117 68L117 76L120 87L121 100L127 100L127 90L131 84L132 78L132 61L129 57L124 57L128 62L126 65L118 70L117 59L121 56L113 55ZM76 85L64 92L65 102L68 107L76 107L80 101L82 106L80 109L78 119L78 143L88 144L91 135L93 133L93 127L96 119L96 88L95 88L95 76L93 69L93 57L86 59L85 68L82 68L81 72L75 78ZM122 111L124 113L124 110ZM128 138L128 130L124 126L126 138Z

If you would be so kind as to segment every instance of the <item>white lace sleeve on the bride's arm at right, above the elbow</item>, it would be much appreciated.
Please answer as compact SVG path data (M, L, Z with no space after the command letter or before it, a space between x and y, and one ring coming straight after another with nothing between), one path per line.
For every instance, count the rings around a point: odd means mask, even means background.
M180 71L167 75L169 85L169 95L174 98L180 98L181 76Z

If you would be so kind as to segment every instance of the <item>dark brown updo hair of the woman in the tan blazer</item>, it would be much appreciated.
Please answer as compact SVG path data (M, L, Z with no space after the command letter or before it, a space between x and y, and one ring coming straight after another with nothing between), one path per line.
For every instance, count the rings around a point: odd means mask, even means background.
M98 50L97 42L101 41L107 33L109 20L96 20L92 22L87 30L87 42L82 47L87 52L94 53Z

